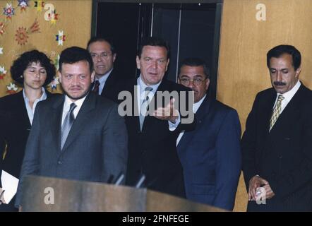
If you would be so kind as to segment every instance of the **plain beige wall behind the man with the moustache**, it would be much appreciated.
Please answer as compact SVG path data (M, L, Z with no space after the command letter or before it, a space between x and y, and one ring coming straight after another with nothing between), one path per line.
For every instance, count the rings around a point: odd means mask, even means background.
M257 4L266 20L256 20ZM253 100L270 87L266 53L278 44L292 44L302 55L301 81L312 88L312 1L224 0L217 99L239 112L242 131ZM241 178L234 210L246 210Z

